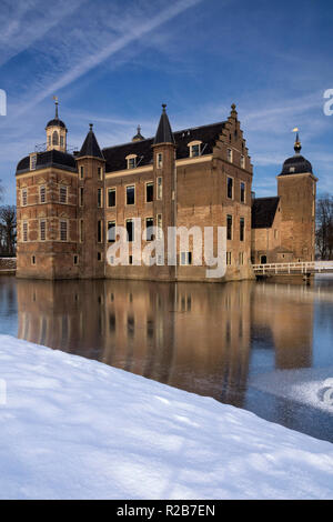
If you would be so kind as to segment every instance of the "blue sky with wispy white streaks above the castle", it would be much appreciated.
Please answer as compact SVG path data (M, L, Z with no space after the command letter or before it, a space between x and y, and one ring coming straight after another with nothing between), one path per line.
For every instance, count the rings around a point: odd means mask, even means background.
M302 153L333 193L333 4L319 0L0 0L0 179L14 202L16 164L46 141L59 97L68 141L89 123L101 147L153 135L161 103L173 130L226 119L236 103L256 195Z

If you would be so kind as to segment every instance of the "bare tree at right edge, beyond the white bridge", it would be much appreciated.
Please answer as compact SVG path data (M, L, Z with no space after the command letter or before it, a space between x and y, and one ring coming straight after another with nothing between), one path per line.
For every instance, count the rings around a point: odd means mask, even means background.
M321 259L333 259L333 197L324 195L316 204L316 248Z

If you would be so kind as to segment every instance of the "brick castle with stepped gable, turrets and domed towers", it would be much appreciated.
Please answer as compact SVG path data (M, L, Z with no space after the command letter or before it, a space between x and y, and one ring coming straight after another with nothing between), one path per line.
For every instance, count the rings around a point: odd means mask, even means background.
M206 281L193 262L193 238L176 262L167 252L153 265L133 263L133 220L142 228L225 227L226 272L210 281L252 279L252 263L311 261L317 179L295 154L278 175L278 197L254 198L253 168L235 106L225 121L173 132L162 106L154 138L100 149L90 130L70 153L58 114L47 124L46 150L17 167L17 275L32 279L144 279ZM115 227L128 232L125 264L107 261ZM154 238L143 235L142 247ZM138 238L137 238L138 240ZM214 238L214 255L218 252Z

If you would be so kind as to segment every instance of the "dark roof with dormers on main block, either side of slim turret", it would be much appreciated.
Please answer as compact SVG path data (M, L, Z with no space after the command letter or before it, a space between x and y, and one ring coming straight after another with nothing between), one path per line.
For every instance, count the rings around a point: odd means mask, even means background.
M173 132L176 159L189 158L189 147L191 141L201 141L201 155L211 154L225 122L220 121L210 126L193 127ZM105 171L115 172L127 169L127 155L137 154L137 165L143 167L152 163L154 138L141 141L131 141L120 145L108 147L102 150L107 160Z

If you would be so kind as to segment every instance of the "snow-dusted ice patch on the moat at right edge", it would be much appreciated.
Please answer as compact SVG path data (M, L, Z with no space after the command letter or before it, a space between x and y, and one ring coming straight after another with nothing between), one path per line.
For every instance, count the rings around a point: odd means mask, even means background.
M265 393L311 405L333 414L333 368L275 370L250 379L249 384ZM333 430L333 416L332 416Z

